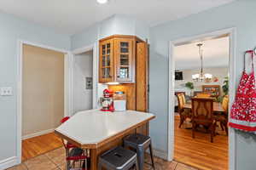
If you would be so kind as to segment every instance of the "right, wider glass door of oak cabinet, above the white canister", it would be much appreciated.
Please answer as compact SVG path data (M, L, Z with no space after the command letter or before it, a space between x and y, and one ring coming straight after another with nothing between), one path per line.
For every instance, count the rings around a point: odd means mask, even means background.
M117 81L132 81L132 40L117 40Z

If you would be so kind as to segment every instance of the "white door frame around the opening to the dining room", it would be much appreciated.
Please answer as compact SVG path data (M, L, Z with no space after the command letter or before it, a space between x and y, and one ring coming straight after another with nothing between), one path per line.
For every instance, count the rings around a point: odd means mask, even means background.
M218 37L228 34L230 37L230 59L229 59L229 74L230 74L230 107L236 95L236 27L212 31L205 34L184 37L169 42L169 93L168 93L168 138L167 138L167 159L172 161L174 158L174 86L175 86L175 60L173 49L176 45L183 42L193 42L207 37ZM229 110L230 111L230 110ZM230 116L230 113L229 113ZM229 117L230 119L230 117ZM236 170L236 132L233 128L229 128L229 169Z

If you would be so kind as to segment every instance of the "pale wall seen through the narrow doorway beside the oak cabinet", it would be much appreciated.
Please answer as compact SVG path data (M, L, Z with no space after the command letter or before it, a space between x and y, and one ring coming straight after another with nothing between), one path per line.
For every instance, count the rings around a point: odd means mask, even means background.
M73 73L73 109L84 111L92 109L92 89L86 89L86 77L92 77L93 71L93 51L74 55Z

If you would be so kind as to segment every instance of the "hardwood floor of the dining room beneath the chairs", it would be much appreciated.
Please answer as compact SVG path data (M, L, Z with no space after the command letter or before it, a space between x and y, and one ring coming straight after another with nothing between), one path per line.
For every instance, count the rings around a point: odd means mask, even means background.
M185 163L199 169L225 170L228 169L228 136L218 128L218 135L210 142L210 134L195 132L192 139L192 130L189 122L178 127L179 116L175 116L175 161Z

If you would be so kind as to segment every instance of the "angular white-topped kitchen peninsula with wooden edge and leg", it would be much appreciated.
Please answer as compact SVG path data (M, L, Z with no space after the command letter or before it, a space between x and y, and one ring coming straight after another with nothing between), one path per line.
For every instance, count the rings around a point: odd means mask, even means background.
M80 111L57 127L55 133L80 148L90 149L90 170L96 170L97 157L102 152L121 144L126 135L135 133L154 117L140 111Z

